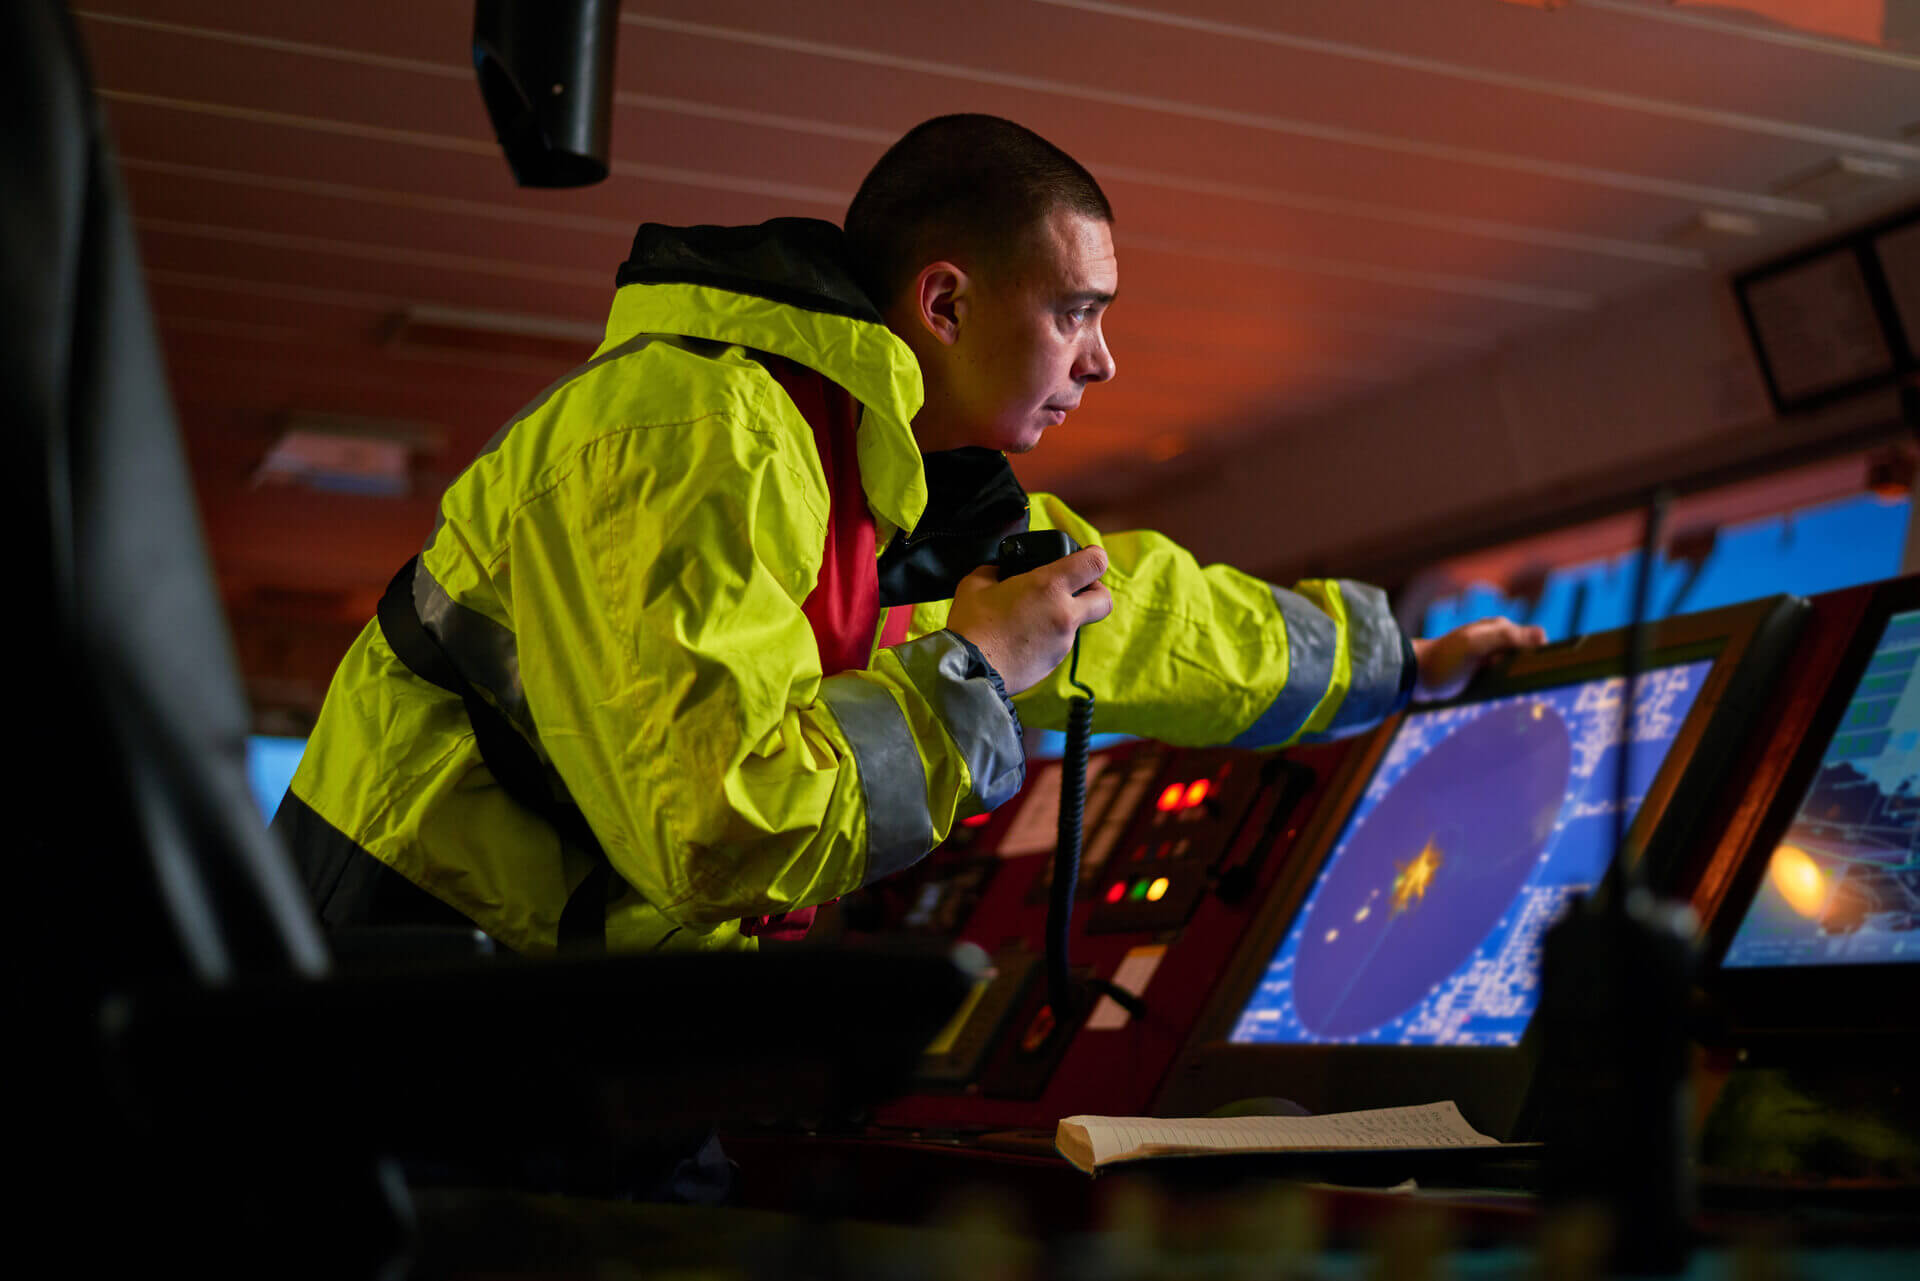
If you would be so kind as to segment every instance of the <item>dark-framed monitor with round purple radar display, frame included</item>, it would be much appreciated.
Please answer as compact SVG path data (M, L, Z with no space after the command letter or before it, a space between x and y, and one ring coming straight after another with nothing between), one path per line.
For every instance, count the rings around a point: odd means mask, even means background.
M1632 716L1628 849L1667 883L1805 603L1655 624ZM1540 945L1615 845L1626 636L1519 655L1375 732L1302 834L1156 1108L1315 1112L1453 1099L1523 1129Z

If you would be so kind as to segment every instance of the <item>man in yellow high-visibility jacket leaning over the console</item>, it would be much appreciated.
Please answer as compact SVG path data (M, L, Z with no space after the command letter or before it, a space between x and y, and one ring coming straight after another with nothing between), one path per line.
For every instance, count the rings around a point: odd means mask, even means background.
M1110 225L1071 157L958 115L881 157L845 236L641 227L605 344L447 488L334 678L275 818L323 920L751 947L1010 799L1089 622L1102 728L1250 747L1538 643L1409 643L1373 588L1029 509L1002 451L1116 371ZM973 568L1027 524L1085 549Z

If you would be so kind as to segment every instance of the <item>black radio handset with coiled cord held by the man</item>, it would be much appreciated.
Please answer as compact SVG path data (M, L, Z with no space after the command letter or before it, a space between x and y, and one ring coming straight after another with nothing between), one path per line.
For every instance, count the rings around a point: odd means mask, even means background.
M1000 540L995 565L1000 578L1025 574L1073 555L1081 545L1066 530L1027 530ZM1079 883L1081 818L1087 809L1087 743L1092 737L1092 689L1079 678L1079 632L1073 634L1073 661L1068 682L1079 689L1068 701L1068 745L1060 761L1060 830L1054 843L1054 883L1046 895L1046 1001L1054 1008L1054 1026L1073 1035L1081 1008L1073 991L1073 972L1068 958L1068 926L1073 922L1073 889ZM1117 983L1089 979L1133 1014L1144 1014L1146 1004Z

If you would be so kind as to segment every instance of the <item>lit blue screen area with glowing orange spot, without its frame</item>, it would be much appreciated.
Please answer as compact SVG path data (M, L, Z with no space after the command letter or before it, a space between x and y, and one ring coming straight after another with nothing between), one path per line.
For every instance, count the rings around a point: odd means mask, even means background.
M1920 611L1893 615L1722 968L1920 962Z

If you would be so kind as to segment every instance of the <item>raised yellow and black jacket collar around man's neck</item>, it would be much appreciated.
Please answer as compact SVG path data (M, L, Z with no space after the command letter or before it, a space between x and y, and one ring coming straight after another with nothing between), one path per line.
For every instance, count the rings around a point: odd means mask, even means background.
M601 351L634 334L680 334L783 355L831 378L866 407L856 449L868 505L899 530L918 524L927 503L912 430L920 365L854 282L839 227L647 223L618 284Z

